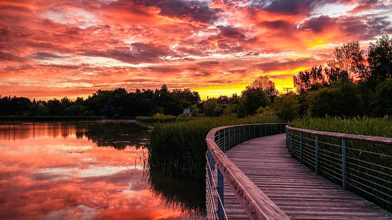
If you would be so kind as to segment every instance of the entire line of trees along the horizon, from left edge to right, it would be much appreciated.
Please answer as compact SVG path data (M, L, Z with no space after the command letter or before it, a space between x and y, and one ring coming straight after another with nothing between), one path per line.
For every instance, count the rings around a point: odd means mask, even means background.
M313 66L293 76L296 92L279 93L268 76L259 76L240 95L201 101L189 88L125 88L98 90L87 99L30 101L25 97L0 96L0 115L106 116L123 118L179 115L190 108L194 116L275 114L285 120L312 116L392 115L392 39L382 36L370 43L368 54L358 42L336 47L335 59L325 67Z

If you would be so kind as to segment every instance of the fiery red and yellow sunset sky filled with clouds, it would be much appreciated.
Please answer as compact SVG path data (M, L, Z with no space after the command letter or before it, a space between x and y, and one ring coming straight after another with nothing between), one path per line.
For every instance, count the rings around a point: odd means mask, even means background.
M391 0L0 0L0 95L277 89L335 46L392 34Z

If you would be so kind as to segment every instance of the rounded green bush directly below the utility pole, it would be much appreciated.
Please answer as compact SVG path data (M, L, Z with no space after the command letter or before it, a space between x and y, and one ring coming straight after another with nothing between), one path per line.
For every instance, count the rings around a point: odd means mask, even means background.
M299 116L298 98L293 93L283 94L276 98L273 104L275 114L285 121L291 121Z

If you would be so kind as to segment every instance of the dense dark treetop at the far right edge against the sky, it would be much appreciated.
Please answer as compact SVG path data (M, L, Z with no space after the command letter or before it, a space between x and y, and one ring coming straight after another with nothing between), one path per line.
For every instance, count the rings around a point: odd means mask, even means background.
M368 49L368 72L359 75L361 81L376 83L392 77L392 38L382 36Z

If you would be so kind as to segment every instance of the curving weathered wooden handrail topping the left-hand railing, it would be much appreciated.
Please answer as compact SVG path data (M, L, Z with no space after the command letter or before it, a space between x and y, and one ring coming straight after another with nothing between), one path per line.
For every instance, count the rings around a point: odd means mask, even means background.
M281 125L287 123L244 124L223 126L208 132L206 142L222 176L240 201L245 213L255 220L289 220L289 217L268 198L245 174L224 154L215 143L215 133L222 129L254 126L254 125Z

